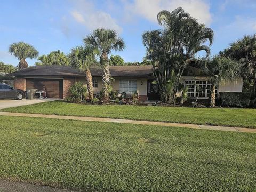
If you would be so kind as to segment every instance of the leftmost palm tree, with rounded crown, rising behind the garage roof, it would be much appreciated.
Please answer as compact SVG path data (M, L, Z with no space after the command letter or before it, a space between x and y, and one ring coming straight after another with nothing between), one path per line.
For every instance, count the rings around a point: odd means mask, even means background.
M19 70L28 68L26 58L33 59L38 56L38 51L32 45L24 42L11 44L9 53L20 60L18 65Z

